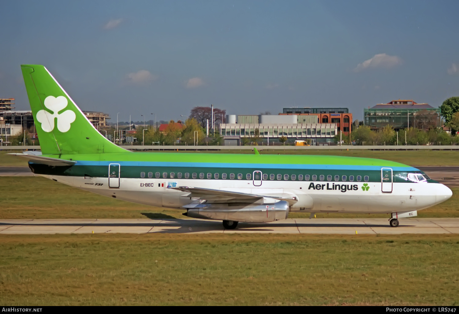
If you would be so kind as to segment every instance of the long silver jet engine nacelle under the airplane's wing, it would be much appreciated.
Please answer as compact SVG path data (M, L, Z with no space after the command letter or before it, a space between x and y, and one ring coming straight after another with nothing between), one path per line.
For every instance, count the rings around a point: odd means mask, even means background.
M220 207L218 207L220 206ZM196 204L188 209L187 216L201 219L232 220L243 222L271 222L287 219L289 203L285 201L266 205L228 206L221 204Z

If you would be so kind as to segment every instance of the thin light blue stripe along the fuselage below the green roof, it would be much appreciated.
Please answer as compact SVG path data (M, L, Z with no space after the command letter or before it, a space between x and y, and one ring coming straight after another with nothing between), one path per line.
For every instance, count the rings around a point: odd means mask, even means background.
M316 164L282 164L282 163L184 163L184 162L119 162L119 161L85 161L78 160L76 166L108 166L119 163L121 166L143 167L200 167L200 168L268 168L268 169L330 169L330 170L381 170L392 168L395 171L419 171L414 167L385 167L361 165L316 165Z

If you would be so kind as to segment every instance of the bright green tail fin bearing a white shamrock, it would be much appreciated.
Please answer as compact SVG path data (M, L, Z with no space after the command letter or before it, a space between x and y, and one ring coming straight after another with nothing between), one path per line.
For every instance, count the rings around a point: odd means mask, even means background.
M94 128L44 66L21 69L43 154L126 152Z

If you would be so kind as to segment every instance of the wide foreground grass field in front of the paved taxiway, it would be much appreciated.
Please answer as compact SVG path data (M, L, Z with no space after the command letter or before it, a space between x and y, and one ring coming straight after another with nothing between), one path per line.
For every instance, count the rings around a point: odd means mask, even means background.
M459 236L0 236L5 305L458 305Z

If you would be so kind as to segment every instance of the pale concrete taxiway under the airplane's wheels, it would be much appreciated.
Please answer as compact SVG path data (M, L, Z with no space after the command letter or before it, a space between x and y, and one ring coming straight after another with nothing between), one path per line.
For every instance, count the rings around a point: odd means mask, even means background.
M304 234L459 234L459 218L285 219L269 224L239 223L224 230L220 221L201 219L23 219L0 220L0 234L72 233L304 233Z

